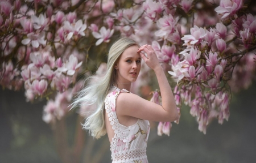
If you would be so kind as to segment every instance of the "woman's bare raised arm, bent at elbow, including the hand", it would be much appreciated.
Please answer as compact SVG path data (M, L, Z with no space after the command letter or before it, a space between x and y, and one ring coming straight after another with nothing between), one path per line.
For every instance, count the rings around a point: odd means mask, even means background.
M147 53L147 57L142 53ZM164 74L163 68L156 57L154 49L150 45L143 45L138 49L138 53L146 62L148 67L155 71L156 78L160 87L162 96L162 106L154 102L144 100L143 98L130 94L120 93L117 97L117 107L121 115L147 119L150 121L175 121L178 118L177 108L172 94L170 84ZM119 107L118 107L119 108Z

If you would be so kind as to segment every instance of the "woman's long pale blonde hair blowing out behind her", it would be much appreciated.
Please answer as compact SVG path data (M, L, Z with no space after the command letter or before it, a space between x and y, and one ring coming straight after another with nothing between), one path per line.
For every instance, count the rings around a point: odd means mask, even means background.
M92 105L95 107L93 113L86 118L82 128L89 130L90 134L96 139L106 134L104 101L117 79L116 70L114 69L115 63L118 62L123 51L133 45L139 46L137 42L127 37L115 41L109 50L105 76L101 79L98 79L97 76L88 77L85 80L88 85L79 92L78 97L72 103L72 108L77 105Z

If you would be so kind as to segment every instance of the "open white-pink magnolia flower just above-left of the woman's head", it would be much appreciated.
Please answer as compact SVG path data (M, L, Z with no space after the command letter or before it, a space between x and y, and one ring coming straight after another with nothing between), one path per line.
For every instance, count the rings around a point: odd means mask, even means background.
M92 32L92 34L93 34L93 36L95 37L95 38L100 38L100 39L98 39L98 41L96 42L96 46L97 45L100 45L103 41L104 42L109 42L110 41L110 37L113 35L113 33L114 33L114 29L111 29L111 31L110 31L110 29L106 29L105 27L101 27L101 29L100 29L100 31L99 31L100 33L98 33L98 32Z

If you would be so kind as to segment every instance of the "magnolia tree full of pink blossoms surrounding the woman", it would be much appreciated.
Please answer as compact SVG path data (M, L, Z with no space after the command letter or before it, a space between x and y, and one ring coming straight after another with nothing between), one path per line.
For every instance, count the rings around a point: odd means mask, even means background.
M27 101L47 98L46 123L68 113L78 79L104 74L100 63L119 36L152 45L174 83L177 109L188 105L204 134L212 119L228 121L231 92L255 79L252 0L1 0L0 7L0 84L24 88ZM135 88L150 81L148 71L142 65ZM159 95L151 101L161 104ZM160 122L158 134L170 128Z

